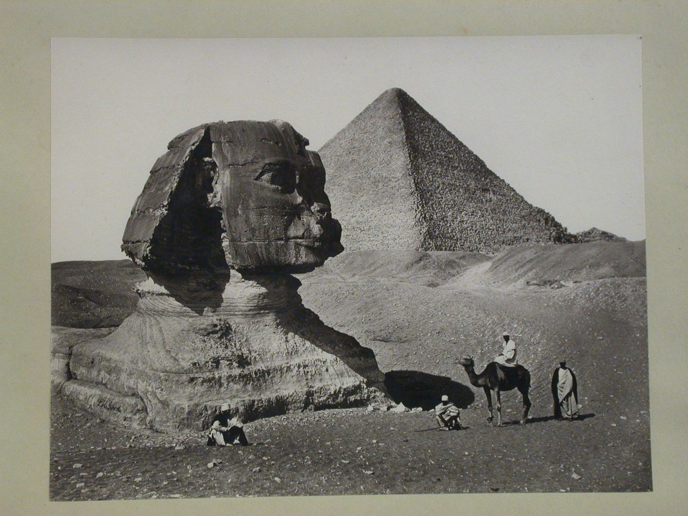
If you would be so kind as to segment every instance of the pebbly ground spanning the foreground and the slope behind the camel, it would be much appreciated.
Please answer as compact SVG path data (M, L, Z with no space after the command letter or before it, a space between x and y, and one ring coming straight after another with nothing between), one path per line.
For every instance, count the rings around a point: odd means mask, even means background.
M468 406L466 430L429 430L427 411L328 410L250 422L254 445L225 449L206 447L201 434L118 429L54 396L51 498L647 491L647 319L637 248L581 244L565 250L565 263L541 249L336 257L300 277L304 304L374 350L398 400L415 392L428 405L449 390ZM515 392L502 398L507 424L487 427L484 394L458 365L471 354L480 372L505 329L533 376L525 427L514 424ZM549 383L561 359L579 379L583 418L574 422L550 417Z

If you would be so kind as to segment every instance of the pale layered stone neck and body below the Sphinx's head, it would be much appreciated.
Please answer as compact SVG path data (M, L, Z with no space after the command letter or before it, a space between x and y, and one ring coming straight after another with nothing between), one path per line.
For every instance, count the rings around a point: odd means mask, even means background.
M226 401L255 419L384 398L372 351L304 308L299 285L234 274L199 315L184 285L144 281L114 333L72 347L63 392L99 416L167 432L207 427Z

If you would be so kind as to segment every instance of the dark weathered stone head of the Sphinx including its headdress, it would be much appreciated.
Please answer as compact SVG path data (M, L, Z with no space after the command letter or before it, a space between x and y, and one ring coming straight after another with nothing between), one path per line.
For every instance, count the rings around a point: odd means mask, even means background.
M306 272L343 250L325 169L287 122L215 122L173 139L131 211L122 250L171 276Z

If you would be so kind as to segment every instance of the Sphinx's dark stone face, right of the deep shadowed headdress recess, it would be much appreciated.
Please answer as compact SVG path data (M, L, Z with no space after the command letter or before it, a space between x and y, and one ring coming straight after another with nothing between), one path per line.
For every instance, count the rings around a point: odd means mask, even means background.
M325 169L291 125L225 122L211 127L211 141L228 264L255 272L302 272L341 252Z

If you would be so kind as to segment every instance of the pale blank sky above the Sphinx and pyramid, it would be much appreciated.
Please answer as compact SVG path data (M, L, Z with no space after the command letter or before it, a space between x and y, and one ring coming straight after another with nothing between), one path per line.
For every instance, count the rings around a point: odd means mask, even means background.
M645 238L638 36L58 38L52 261L124 258L131 206L186 129L281 118L317 150L390 87L569 230Z

